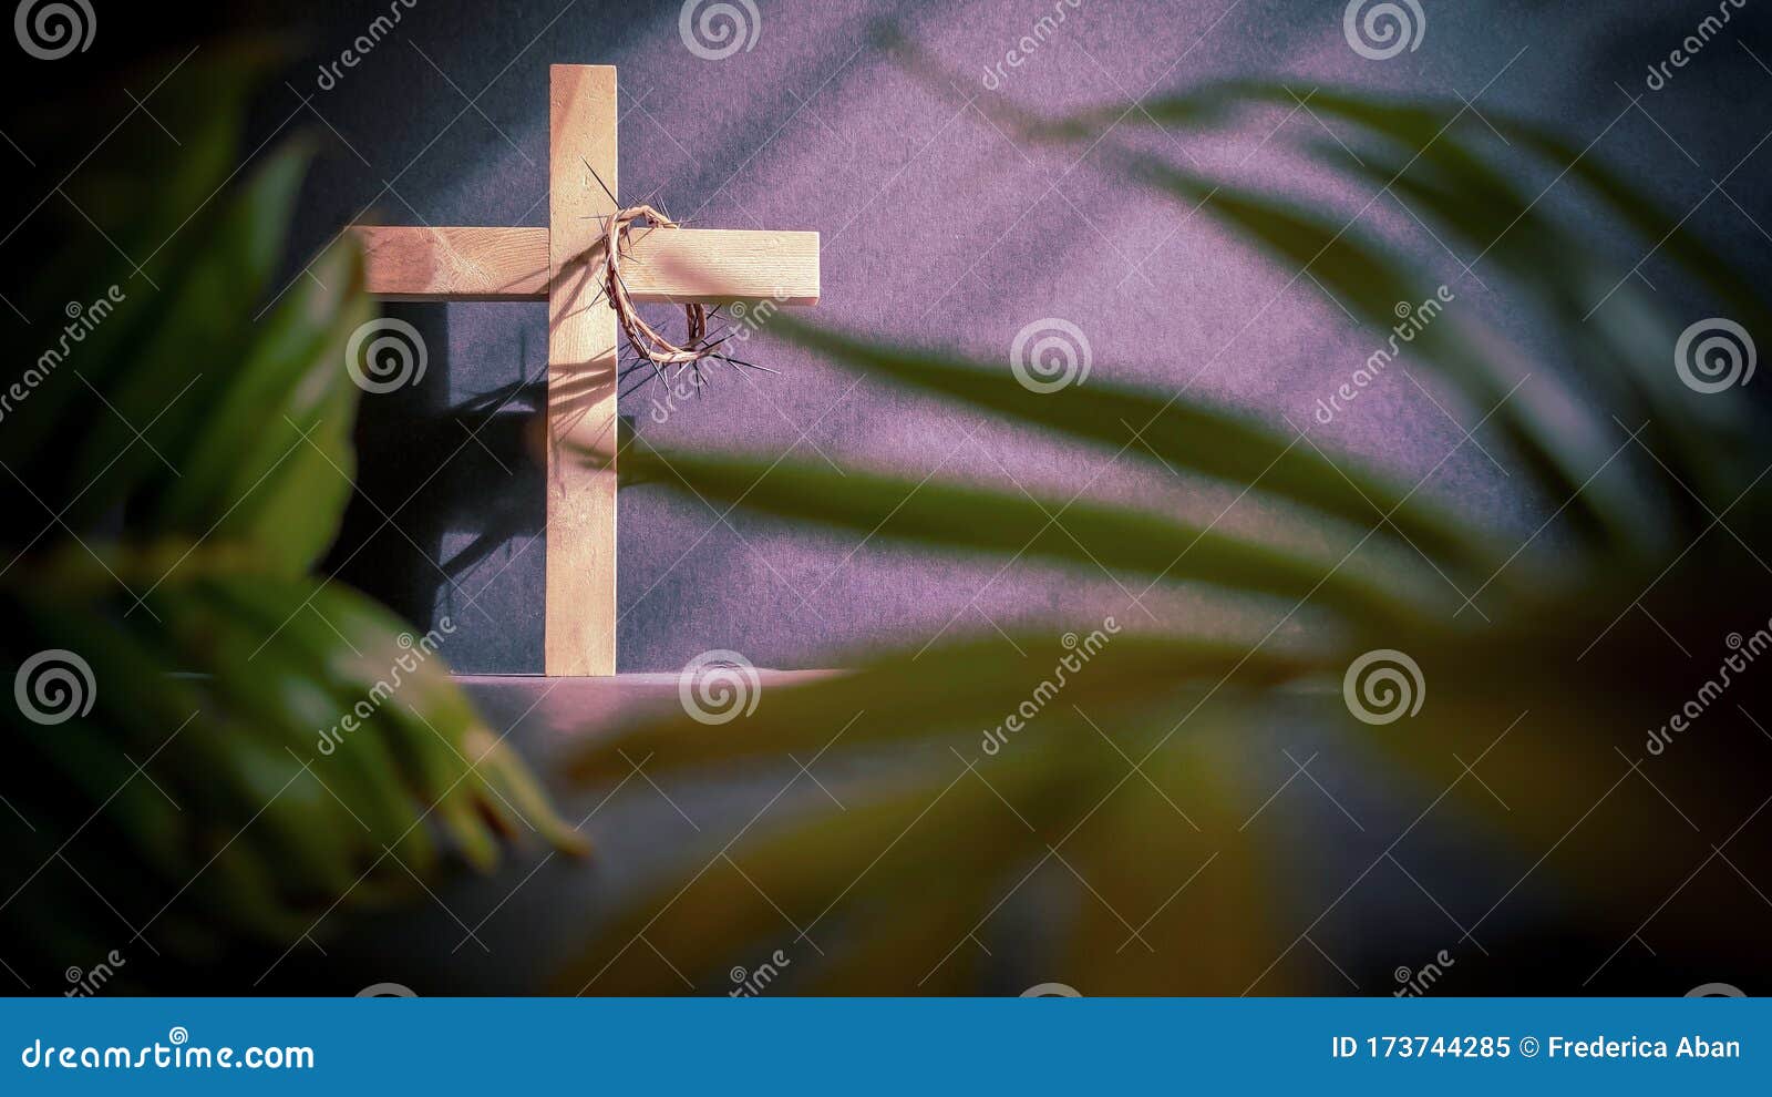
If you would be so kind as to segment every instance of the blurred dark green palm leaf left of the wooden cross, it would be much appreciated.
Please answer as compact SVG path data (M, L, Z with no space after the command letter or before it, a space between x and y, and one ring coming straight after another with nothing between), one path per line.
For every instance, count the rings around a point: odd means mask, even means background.
M76 691L21 681L50 718L0 718L16 813L0 920L37 945L37 985L119 946L144 985L183 985L324 936L335 909L422 895L445 854L486 868L503 838L581 847L450 681L439 636L308 576L351 494L346 342L374 312L347 245L278 289L312 149L239 145L276 60L193 53L154 105L181 154L124 128L28 225L55 245L23 307L101 303L0 431L0 491L25 517L0 647L11 666L46 652ZM147 953L168 968L138 975Z

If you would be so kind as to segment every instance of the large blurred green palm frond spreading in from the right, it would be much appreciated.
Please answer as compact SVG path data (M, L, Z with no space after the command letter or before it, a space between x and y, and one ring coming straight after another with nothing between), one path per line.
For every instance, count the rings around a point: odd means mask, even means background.
M1180 168L1102 136L1120 121L1216 126L1240 110L1292 110L1297 99L1278 83L1237 82L1154 99L1148 113L1113 106L1058 122L1006 110L998 117L1042 140L1095 147L1100 138L1099 159L1173 200L1175 216L1219 220L1283 269L1308 269L1363 323L1389 330L1398 301L1425 300L1435 282L1357 225L1359 200L1327 209L1286 188ZM812 959L810 941L824 955L797 969L796 989L976 989L1001 985L1005 971L1031 976L1030 964L1042 962L1049 968L1038 971L1054 980L1086 971L1088 992L1345 987L1333 971L1320 975L1327 968L1283 962L1306 948L1301 941L1317 923L1311 911L1285 913L1295 858L1251 826L1272 787L1242 773L1247 739L1288 721L1329 725L1389 774L1380 780L1426 789L1403 835L1432 813L1473 819L1517 851L1527 867L1520 884L1554 872L1577 897L1581 918L1545 932L1579 925L1595 950L1572 966L1607 961L1620 939L1641 930L1644 911L1678 922L1657 934L1669 953L1662 962L1712 955L1706 950L1754 955L1751 920L1696 923L1669 902L1698 875L1694 867L1721 865L1726 851L1745 867L1749 886L1768 863L1765 829L1751 826L1767 806L1768 773L1751 721L1772 689L1763 675L1733 682L1708 734L1687 734L1676 746L1650 746L1644 728L1687 711L1721 659L1712 652L1724 634L1738 643L1772 627L1772 567L1756 549L1772 535L1772 512L1754 493L1772 468L1763 413L1749 393L1701 397L1680 383L1673 360L1685 324L1632 285L1614 285L1609 271L1618 268L1605 264L1582 222L1552 220L1540 206L1545 184L1568 174L1602 218L1623 223L1644 246L1659 243L1738 321L1772 331L1763 294L1678 213L1659 209L1598 156L1542 126L1485 112L1517 145L1506 149L1457 103L1317 89L1310 105L1341 131L1320 140L1317 129L1297 142L1299 156L1348 174L1361 195L1395 191L1430 230L1478 252L1488 278L1510 278L1559 342L1561 353L1522 349L1467 307L1435 317L1409 351L1462 393L1465 422L1481 420L1506 441L1527 473L1517 486L1536 493L1545 525L1529 537L1485 528L1430 489L1398 486L1320 448L1292 424L1281 429L1203 404L1185 386L1141 390L1104 381L1115 370L1097 369L1081 386L1031 393L1001 363L776 319L778 333L870 379L1132 461L1155 459L1283 502L1310 528L1347 523L1366 537L1347 558L1318 558L1278 539L1200 528L1090 493L1042 500L1019 486L836 473L792 457L631 443L624 470L636 482L719 509L1003 564L1038 558L1079 574L1106 567L1134 587L1207 583L1235 597L1278 599L1278 624L1226 640L1207 619L1162 629L1127 620L1136 633L1115 636L1047 695L1042 681L1065 652L1056 633L1099 626L1054 622L1044 636L948 642L813 684L769 688L757 714L735 725L677 718L587 748L574 773L594 783L624 776L620 751L634 750L661 780L776 764L792 785L799 778L787 760L808 757L824 759L822 769L890 757L902 776L891 789L840 789L842 810L819 797L794 810L766 805L689 888L672 881L615 918L569 968L562 991L680 991L634 948L641 936L664 955L686 957L679 975L702 991L727 985L725 964L771 948L787 948L796 962ZM1520 152L1545 172L1538 184ZM1602 300L1616 303L1616 323L1589 323ZM1196 372L1162 365L1177 381ZM1540 537L1556 519L1575 537ZM1372 549L1361 551L1368 541L1400 548L1403 564L1387 556L1375 565ZM1405 574L1412 571L1425 587ZM1423 588L1434 594L1418 594ZM1448 588L1457 594L1448 597ZM1299 620L1308 627L1283 631L1295 615L1306 615ZM1356 721L1340 686L1372 650L1402 650L1419 665L1419 716L1395 727ZM992 743L987 732L1031 696L1040 698L1037 712L1006 743ZM1552 856L1552 867L1540 868ZM742 874L730 870L739 865ZM1040 893L1051 936L1030 941L1003 911L1014 911L1017 895L1026 900L1033 868L1058 875L1067 899ZM757 877L781 909L760 904L744 877ZM1728 886L1719 868L1690 893ZM1506 946L1492 934L1519 932L1517 923L1490 923L1512 895L1467 916L1469 938L1490 952ZM1001 939L1015 952L994 962Z

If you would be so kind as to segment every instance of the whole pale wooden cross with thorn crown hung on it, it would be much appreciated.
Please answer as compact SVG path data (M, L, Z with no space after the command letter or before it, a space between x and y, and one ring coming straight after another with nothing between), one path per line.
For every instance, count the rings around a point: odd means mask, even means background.
M548 106L546 229L363 225L356 234L369 292L381 300L548 301L544 673L611 675L620 335L599 271L620 193L615 67L553 66ZM819 303L817 232L659 229L629 243L622 282L634 301Z

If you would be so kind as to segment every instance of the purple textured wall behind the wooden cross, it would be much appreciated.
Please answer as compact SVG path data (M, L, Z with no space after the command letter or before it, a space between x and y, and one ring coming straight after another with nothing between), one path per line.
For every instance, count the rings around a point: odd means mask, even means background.
M1099 147L1012 142L980 105L1008 97L1058 113L1230 76L1274 76L1299 96L1325 83L1462 94L1483 108L1545 117L1579 144L1605 129L1597 154L1630 165L1685 209L1708 188L1706 172L1728 170L1751 144L1705 103L1772 80L1726 46L1657 94L1655 121L1705 165L1698 168L1614 85L1643 90L1636 62L1666 55L1698 5L1425 0L1421 46L1391 60L1357 55L1343 35L1345 5L1327 0L758 0L755 19L746 7L735 5L751 21L753 46L705 58L686 46L675 0L533 0L496 12L418 0L330 90L315 87L312 66L292 78L351 145L328 156L310 188L307 236L323 239L370 202L390 223L544 223L548 66L615 64L622 197L656 191L654 202L705 227L822 232L817 321L952 346L1001 362L1010 383L1017 331L1065 319L1090 344L1093 377L1185 385L1191 395L1306 425L1382 333L1363 330L1313 280L1292 278L1210 216L1116 181ZM324 7L315 62L337 57L381 11ZM987 66L1021 51L1037 21L1056 21L1060 11L1065 18L1042 32L1045 41L989 89ZM881 18L897 19L952 71L953 87L930 87L881 51L870 39ZM1212 138L1155 133L1132 112L1115 136L1359 213L1361 232L1419 257L1421 298L1446 285L1460 307L1531 338L1501 287L1483 284L1481 264L1464 268L1471 255L1451 255L1395 200L1361 213L1368 195L1301 167L1292 149L1327 140L1308 108L1253 113ZM1753 232L1724 204L1705 206L1692 225L1721 239ZM1627 252L1620 248L1620 275L1634 259ZM523 445L533 392L516 393L498 415L486 411L510 386L540 377L542 307L399 314L431 340L431 374L418 390L367 401L363 491L374 505L354 509L333 565L415 617L455 619L450 654L462 670L537 672L542 496ZM1092 486L1201 521L1233 498L1150 463L1058 447L858 379L767 337L753 349L780 376L721 377L663 424L649 415L656 388L624 402L624 413L668 445L769 457L792 450L820 466L1021 484L1063 498ZM1313 424L1313 441L1411 482L1432 470L1464 436L1453 420L1471 424L1480 411L1411 374L1407 360L1403 367L1331 425ZM1478 441L1487 441L1481 432ZM1529 532L1542 502L1510 494L1506 461L1492 445L1465 445L1423 491ZM1240 503L1221 528L1262 530L1267 521ZM622 670L675 670L716 647L760 666L828 666L865 647L918 647L936 634L1014 631L1074 613L1141 615L1131 595L1143 581L1044 567L999 576L998 562L859 541L742 512L721 519L656 487L624 491ZM1209 604L1187 588L1139 601L1157 617Z

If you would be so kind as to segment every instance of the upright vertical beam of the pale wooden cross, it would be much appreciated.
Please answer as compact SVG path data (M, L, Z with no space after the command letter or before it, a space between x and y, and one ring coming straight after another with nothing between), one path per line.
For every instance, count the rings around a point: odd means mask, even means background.
M588 264L615 213L611 66L549 69L544 672L615 673L617 323ZM592 174L595 172L595 175ZM601 179L601 181L599 181ZM604 190L608 188L608 191Z

